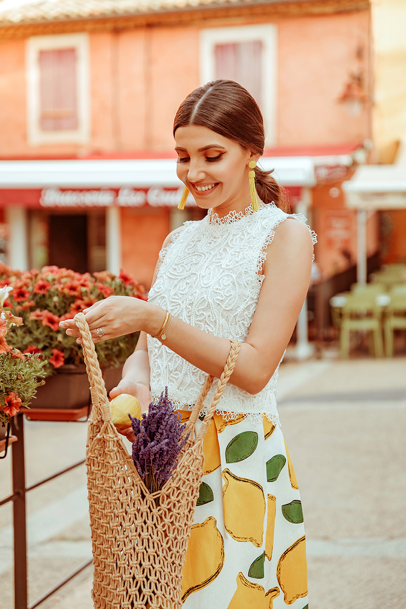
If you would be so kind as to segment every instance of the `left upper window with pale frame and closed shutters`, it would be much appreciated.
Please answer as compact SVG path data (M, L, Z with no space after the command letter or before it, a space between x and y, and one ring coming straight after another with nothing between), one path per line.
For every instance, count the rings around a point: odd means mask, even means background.
M88 63L85 33L35 36L27 41L30 144L88 141Z

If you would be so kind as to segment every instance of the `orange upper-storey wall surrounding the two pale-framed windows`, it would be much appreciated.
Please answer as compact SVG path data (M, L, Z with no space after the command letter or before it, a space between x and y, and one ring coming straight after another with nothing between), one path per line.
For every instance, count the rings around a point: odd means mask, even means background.
M351 72L363 71L369 88L368 11L271 23L278 26L278 145L338 144L369 136L369 108L354 117L338 103ZM229 24L208 20L204 26ZM172 149L175 111L199 85L200 29L201 23L191 23L89 33L91 139L85 146L27 146L25 41L1 41L0 156Z

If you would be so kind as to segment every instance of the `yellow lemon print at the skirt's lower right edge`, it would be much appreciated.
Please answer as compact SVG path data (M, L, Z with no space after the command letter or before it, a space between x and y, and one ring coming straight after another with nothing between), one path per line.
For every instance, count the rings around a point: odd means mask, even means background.
M292 605L296 599L307 594L306 541L301 537L279 558L276 568L279 586L284 593L284 602Z

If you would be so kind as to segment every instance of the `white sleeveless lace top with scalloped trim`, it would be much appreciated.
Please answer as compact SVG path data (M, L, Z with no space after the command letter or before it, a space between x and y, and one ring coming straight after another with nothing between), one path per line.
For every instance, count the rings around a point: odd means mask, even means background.
M245 213L231 211L219 218L209 210L203 220L185 222L159 253L158 274L149 301L213 336L245 341L264 281L264 275L259 274L266 258L264 248L287 217L306 220L301 214L288 216L275 205L261 204L256 212L249 207ZM314 243L313 232L312 239ZM147 340L152 400L158 400L167 387L174 409L192 409L207 374L158 339L148 336ZM226 419L243 414L259 421L266 415L268 420L278 422L278 368L255 395L231 383L226 385L217 412ZM216 384L217 379L206 398L206 408Z

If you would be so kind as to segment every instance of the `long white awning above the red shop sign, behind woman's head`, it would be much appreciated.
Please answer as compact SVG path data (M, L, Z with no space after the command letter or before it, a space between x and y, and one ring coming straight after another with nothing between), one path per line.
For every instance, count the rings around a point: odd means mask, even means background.
M282 186L313 186L311 157L264 157L264 169L275 169ZM0 189L59 188L178 188L173 159L114 159L68 161L0 161Z

